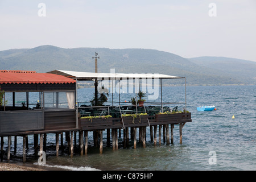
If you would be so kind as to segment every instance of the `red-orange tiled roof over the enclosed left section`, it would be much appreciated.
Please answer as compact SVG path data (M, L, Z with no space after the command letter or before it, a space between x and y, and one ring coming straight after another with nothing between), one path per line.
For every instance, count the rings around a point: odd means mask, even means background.
M61 75L31 71L0 71L0 84L71 84L76 81Z

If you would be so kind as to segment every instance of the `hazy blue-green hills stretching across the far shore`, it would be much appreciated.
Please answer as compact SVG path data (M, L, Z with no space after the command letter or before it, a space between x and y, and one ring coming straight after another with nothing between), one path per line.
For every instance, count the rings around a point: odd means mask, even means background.
M185 59L154 49L59 48L0 51L0 69L48 72L55 69L94 72L94 52L98 52L98 72L163 73L187 78L188 85L256 84L253 61L226 57ZM166 81L164 84L176 83Z

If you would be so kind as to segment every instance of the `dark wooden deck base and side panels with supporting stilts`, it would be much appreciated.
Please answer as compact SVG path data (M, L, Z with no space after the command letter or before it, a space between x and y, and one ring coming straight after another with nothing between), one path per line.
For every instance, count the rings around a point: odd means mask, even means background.
M23 111L0 111L0 137L1 137L1 160L3 154L3 137L8 137L7 160L10 161L10 140L11 136L23 137L23 162L26 162L26 141L27 135L34 135L35 150L38 147L38 137L40 135L40 151L45 147L46 135L48 133L56 134L56 156L59 156L59 135L65 133L69 147L69 155L73 156L74 132L79 132L80 155L87 154L88 151L88 132L93 131L97 137L94 143L100 141L100 153L102 154L102 133L107 130L107 142L110 142L110 133L112 135L113 150L118 149L118 129L119 136L123 130L123 147L129 143L129 128L131 139L134 142L134 148L137 146L137 128L139 129L139 141L146 147L146 127L150 126L151 141L156 145L156 130L159 131L159 144L163 133L164 142L170 144L171 125L171 143L173 139L174 125L179 125L180 143L182 143L182 128L187 122L192 122L191 113L179 114L155 114L143 115L140 118L131 117L108 118L108 119L78 119L76 121L76 110L23 110ZM162 129L163 127L163 129ZM110 132L110 130L112 130ZM154 133L154 135L153 135ZM15 137L16 139L16 137ZM85 140L85 141L84 141ZM14 142L15 143L15 142ZM37 154L37 153L36 153Z

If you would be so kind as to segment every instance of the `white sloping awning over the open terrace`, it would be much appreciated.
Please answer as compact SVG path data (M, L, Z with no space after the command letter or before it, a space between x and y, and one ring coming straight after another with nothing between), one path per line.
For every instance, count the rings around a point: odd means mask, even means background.
M75 72L55 70L47 73L62 75L77 80L128 80L128 79L171 79L184 78L178 76L170 76L163 74L152 73L92 73L92 72Z

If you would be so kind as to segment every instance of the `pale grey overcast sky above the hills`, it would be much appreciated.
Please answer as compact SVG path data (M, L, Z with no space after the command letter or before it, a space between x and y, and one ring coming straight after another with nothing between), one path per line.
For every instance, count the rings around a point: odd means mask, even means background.
M0 0L0 33L0 51L150 48L256 61L256 1Z

